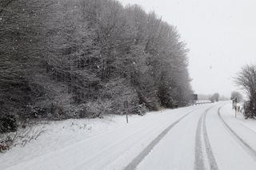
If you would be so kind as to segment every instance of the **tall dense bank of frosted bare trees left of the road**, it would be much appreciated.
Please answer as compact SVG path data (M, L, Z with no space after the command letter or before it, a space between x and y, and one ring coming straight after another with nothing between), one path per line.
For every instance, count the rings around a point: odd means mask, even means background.
M113 0L2 0L0 113L18 118L144 113L190 101L174 26Z

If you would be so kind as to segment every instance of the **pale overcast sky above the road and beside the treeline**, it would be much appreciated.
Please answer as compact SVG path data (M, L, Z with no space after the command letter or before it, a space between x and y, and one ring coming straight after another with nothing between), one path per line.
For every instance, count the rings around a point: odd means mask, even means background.
M256 0L119 0L154 10L190 49L195 93L230 97L242 65L256 63Z

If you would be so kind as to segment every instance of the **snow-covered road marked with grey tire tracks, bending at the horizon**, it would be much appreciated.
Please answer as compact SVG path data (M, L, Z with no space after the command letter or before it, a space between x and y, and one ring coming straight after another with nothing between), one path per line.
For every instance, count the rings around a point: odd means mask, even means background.
M128 125L29 160L11 161L15 152L6 153L0 157L0 169L249 170L256 168L255 127L256 121L234 118L230 102L166 110L130 117Z

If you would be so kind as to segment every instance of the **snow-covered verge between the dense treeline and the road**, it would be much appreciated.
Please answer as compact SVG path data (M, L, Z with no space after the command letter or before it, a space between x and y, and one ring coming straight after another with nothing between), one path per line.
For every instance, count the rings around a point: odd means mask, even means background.
M9 152L0 154L0 169L8 168L14 164L20 164L27 160L31 160L34 157L61 150L72 144L77 144L79 141L87 140L106 132L111 132L117 128L126 128L127 126L130 126L133 130L132 127L134 127L134 125L143 123L145 123L145 125L150 125L159 117L159 114L161 114L160 118L162 122L167 122L169 124L169 121L175 121L178 117L182 117L183 114L196 107L197 106L165 110L162 113L148 113L144 117L133 115L129 117L129 125L126 125L125 116L113 115L106 116L104 119L53 121L49 122L49 124L37 125L34 128L43 127L45 132L43 132L41 136L38 136L37 140L31 140L25 147L18 145L12 148ZM166 121L166 118L168 118L169 121ZM162 129L159 129L159 131L161 130ZM103 142L104 141L102 140L102 143Z

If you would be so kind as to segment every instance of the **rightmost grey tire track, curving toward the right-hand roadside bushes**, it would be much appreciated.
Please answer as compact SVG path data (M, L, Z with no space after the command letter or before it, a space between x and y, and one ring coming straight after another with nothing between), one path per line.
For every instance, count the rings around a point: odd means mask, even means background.
M250 156L252 156L253 159L256 160L256 151L254 150L254 148L252 148L250 146L250 144L247 144L246 141L242 139L242 137L238 136L238 134L236 132L234 132L234 130L232 128L230 128L230 125L228 125L226 123L226 121L224 121L224 119L223 119L223 117L221 116L221 113L220 113L221 109L222 109L222 107L218 108L218 117L222 121L223 125L230 132L230 134L234 137L234 139L238 141L238 143L242 146L242 148L245 149L246 152L249 152Z

